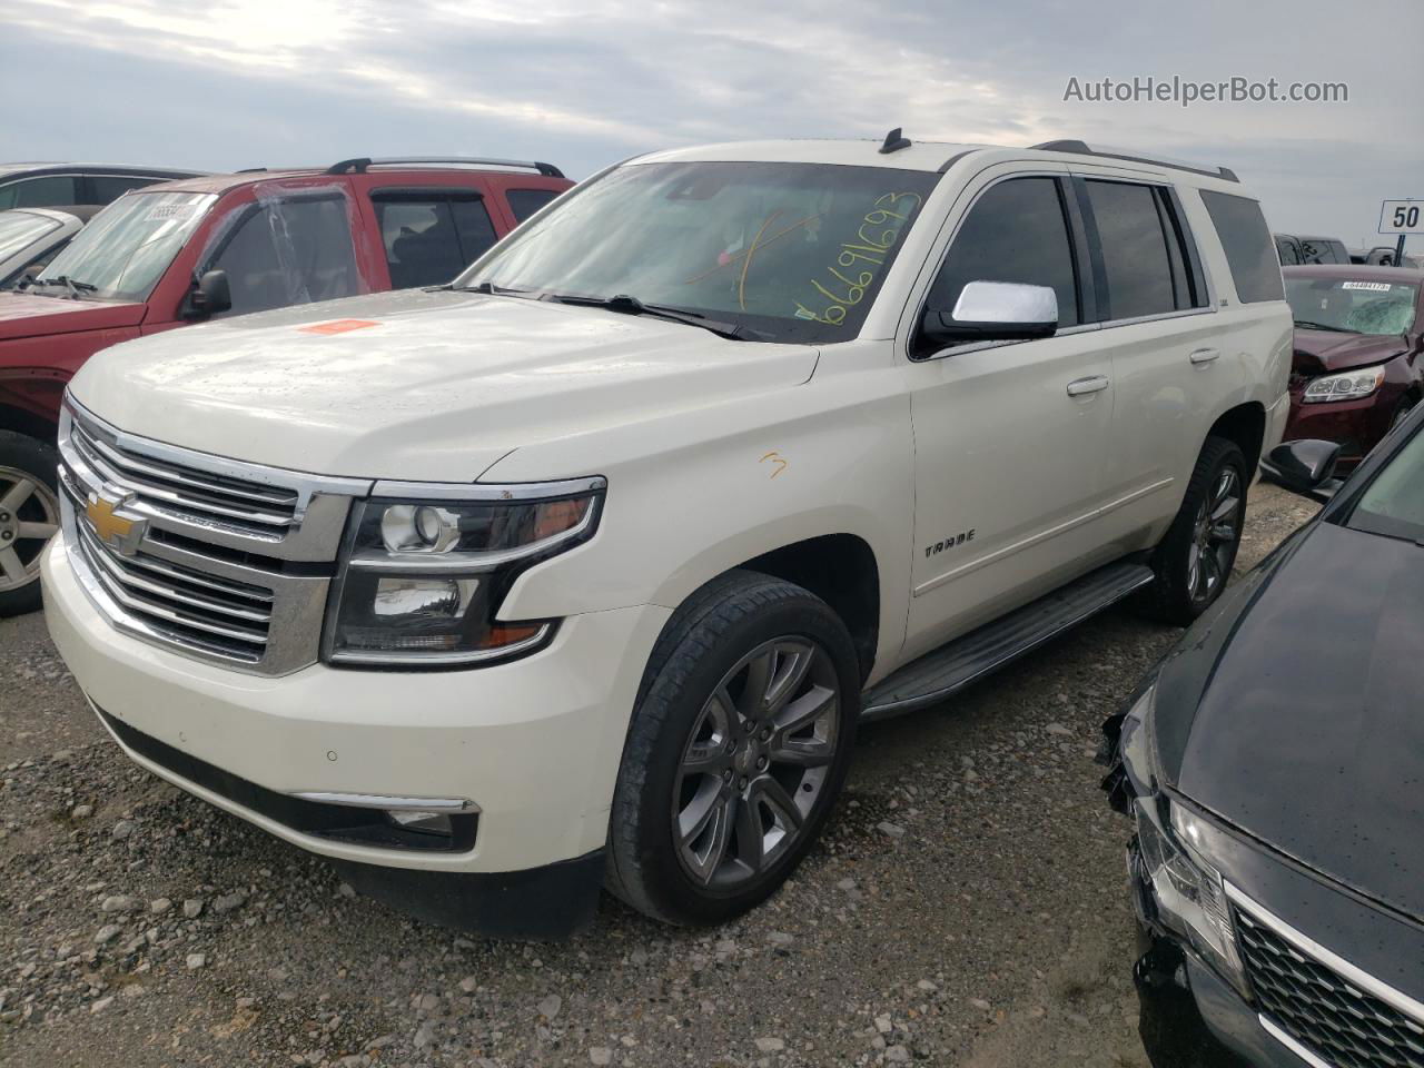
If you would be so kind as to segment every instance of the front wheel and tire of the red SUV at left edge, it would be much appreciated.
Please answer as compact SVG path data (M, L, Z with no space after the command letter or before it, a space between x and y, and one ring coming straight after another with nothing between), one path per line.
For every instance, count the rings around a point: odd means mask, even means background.
M60 528L54 446L0 430L0 617L40 607L40 551Z

